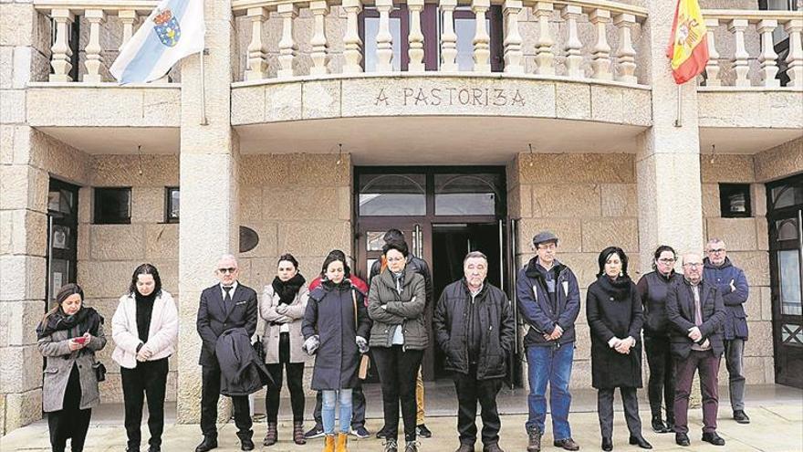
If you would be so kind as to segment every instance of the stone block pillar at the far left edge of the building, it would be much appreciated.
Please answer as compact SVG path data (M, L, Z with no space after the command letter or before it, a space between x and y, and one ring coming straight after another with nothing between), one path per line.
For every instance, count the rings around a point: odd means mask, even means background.
M26 83L47 79L31 4L0 5L0 436L42 415L36 324L45 309L48 175L26 124Z

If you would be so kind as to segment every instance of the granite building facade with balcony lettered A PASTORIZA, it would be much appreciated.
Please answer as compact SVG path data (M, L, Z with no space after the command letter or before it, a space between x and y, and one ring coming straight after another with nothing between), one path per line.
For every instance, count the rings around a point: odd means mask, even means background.
M645 0L216 0L203 84L193 56L120 87L108 68L156 1L0 0L0 433L41 416L34 330L60 283L110 319L133 268L160 269L168 398L197 422L216 259L257 291L284 252L308 279L332 248L365 275L393 226L441 282L484 250L508 293L551 229L583 299L603 247L645 272L660 244L720 237L751 285L748 384L800 386L801 5L700 3L712 59L680 88L673 2Z

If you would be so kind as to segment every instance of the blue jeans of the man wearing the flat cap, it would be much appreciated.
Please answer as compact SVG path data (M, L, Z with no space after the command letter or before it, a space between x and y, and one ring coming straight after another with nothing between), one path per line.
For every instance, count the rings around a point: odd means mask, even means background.
M527 374L530 394L527 396L529 416L527 430L537 428L544 432L547 419L547 382L549 383L549 408L552 413L552 436L556 439L571 437L568 426L568 408L571 394L568 381L571 378L571 363L574 359L574 342L551 346L527 347Z

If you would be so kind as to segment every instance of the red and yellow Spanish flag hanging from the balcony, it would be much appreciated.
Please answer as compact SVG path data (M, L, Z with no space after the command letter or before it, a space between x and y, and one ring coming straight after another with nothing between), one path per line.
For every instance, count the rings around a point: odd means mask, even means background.
M672 59L672 75L681 85L697 77L708 63L705 21L697 0L678 0L672 37L666 56Z

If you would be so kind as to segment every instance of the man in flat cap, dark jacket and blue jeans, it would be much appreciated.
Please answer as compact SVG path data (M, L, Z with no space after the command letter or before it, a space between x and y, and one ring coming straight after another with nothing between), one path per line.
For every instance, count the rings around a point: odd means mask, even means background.
M547 418L547 384L553 444L566 450L578 450L568 425L571 405L568 381L574 359L574 322L580 310L580 290L571 269L555 258L558 252L555 234L539 232L533 237L533 247L536 257L518 272L516 281L518 310L528 327L524 337L530 386L527 452L541 450Z

